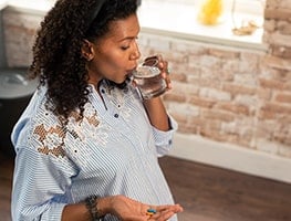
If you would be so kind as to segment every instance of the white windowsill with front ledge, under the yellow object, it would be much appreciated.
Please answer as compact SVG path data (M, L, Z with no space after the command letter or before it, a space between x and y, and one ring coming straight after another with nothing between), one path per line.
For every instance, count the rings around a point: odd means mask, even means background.
M247 14L248 20L262 24L262 18ZM236 22L246 14L236 14ZM183 40L194 40L241 49L267 51L261 42L263 30L259 28L251 35L232 34L231 13L225 13L216 25L204 25L197 21L197 8L175 2L143 1L138 9L142 32L163 34Z

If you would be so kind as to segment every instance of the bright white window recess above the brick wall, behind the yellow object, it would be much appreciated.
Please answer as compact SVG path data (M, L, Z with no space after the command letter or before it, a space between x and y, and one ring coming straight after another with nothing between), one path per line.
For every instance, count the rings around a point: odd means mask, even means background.
M264 0L224 0L224 14L216 25L204 25L197 19L204 0L142 0L139 21L144 31L221 44L248 44L263 48ZM232 29L257 28L251 34L235 34ZM263 49L264 50L264 49Z

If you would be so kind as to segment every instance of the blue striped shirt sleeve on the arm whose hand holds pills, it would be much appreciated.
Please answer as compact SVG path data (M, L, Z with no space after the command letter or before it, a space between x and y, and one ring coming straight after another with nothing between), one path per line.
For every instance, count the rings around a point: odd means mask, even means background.
M65 189L76 169L65 157L56 158L31 148L18 149L11 199L12 220L61 220L67 203Z

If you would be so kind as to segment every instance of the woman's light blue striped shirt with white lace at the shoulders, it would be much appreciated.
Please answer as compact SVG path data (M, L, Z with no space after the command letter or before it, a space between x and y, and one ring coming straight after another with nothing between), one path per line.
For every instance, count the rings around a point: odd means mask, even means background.
M45 108L43 87L14 126L13 220L61 220L65 204L91 194L174 203L157 158L170 149L176 122L169 117L169 131L154 128L131 85L119 90L103 82L101 95L90 87L82 119L74 112L63 127Z

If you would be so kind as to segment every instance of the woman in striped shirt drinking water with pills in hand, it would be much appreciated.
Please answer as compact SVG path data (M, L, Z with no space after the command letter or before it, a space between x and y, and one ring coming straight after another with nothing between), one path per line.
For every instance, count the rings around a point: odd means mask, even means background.
M157 161L177 125L129 81L136 10L136 0L59 0L41 23L30 66L40 86L12 133L13 220L164 221L183 210ZM167 62L158 67L170 88Z

